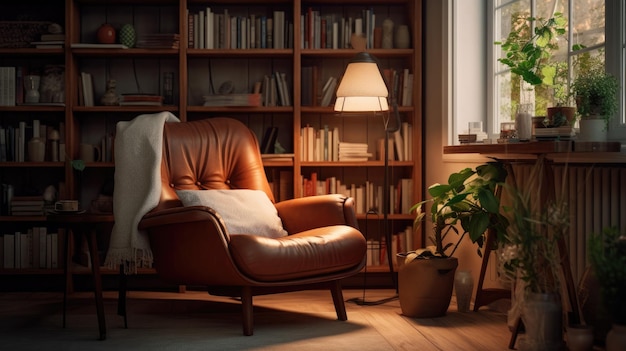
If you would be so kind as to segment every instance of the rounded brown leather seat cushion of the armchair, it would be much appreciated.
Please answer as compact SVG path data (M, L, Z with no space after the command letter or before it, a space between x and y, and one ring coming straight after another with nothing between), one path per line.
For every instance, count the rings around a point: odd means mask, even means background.
M363 234L347 225L321 227L281 238L231 235L237 267L258 281L285 281L341 272L365 256Z

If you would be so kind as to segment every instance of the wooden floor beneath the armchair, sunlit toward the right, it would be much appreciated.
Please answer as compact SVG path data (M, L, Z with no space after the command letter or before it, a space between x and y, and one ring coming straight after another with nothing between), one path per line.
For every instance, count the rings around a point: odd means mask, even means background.
M401 314L400 304L397 299L379 305L361 305L351 302L351 299L363 299L370 303L381 299L393 297L393 290L344 290L344 298L348 313L347 322L336 321L334 308L330 293L327 291L303 291L285 294L274 294L267 296L257 296L254 298L255 311L255 334L252 337L241 336L239 305L233 299L213 297L205 292L187 291L184 293L171 292L129 292L129 328L123 329L119 316L115 314L117 306L117 294L115 292L105 292L105 307L107 318L107 340L85 346L73 338L84 338L78 334L86 332L87 338L95 340L97 333L97 323L95 307L93 307L93 295L79 292L70 295L68 304L68 327L59 329L60 299L62 295L58 293L0 293L0 338L3 344L15 345L12 349L37 349L45 347L46 350L53 350L55 341L52 338L63 332L64 343L59 343L59 349L80 349L89 347L90 349L107 349L113 347L116 342L124 340L126 334L133 335L134 338L142 337L152 326L153 333L157 336L148 337L149 340L158 338L159 334L172 330L171 322L159 324L157 318L162 315L177 315L175 321L181 321L183 315L197 315L203 307L199 307L199 302L209 301L211 303L224 303L228 308L221 309L219 317L202 315L202 319L197 318L195 323L202 321L201 330L215 330L219 328L219 335L211 336L215 340L229 335L229 340L237 340L237 349L252 348L247 343L255 343L255 350L289 350L296 347L303 350L507 350L511 333L507 326L506 314L490 308L481 308L478 312L460 313L457 311L453 301L448 313L444 317L432 319L408 318ZM148 301L149 305L145 305ZM140 306L144 307L140 307ZM216 306L216 305L213 305ZM212 307L213 308L213 307ZM35 318L37 309L42 309L48 313L49 320L43 317ZM208 310L208 308L207 308ZM215 310L215 309L214 309ZM269 311L269 312L268 312ZM82 317L79 317L82 316ZM151 316L146 319L145 316ZM10 320L13 318L14 321ZM84 322L77 322L84 320ZM22 329L10 330L17 320L28 320L21 322ZM208 321L207 321L208 320ZM149 321L149 322L147 322ZM15 323L14 323L15 322ZM188 322L188 320L187 320ZM44 324L49 325L44 325ZM178 323L178 322L177 322ZM180 322L182 323L182 322ZM205 323L213 323L207 326ZM318 330L316 334L306 334L307 323L314 325ZM40 325L41 324L41 325ZM77 325L82 324L82 325ZM150 325L148 325L150 324ZM219 326L219 327L217 327ZM303 327L298 331L296 327ZM289 329L289 334L298 334L293 340L293 335L281 336L281 329ZM17 328L17 327L15 327ZM24 334L23 328L31 328L25 335L30 340L18 339L17 335ZM162 329L159 329L162 328ZM328 331L322 331L330 328ZM343 329L342 329L343 328ZM4 329L4 332L2 330ZM133 331L135 330L135 331ZM193 327L175 330L179 334L191 333ZM309 331L310 332L310 331ZM357 334L354 334L356 332ZM41 333L41 335L38 335ZM359 334L360 333L360 334ZM276 335L278 336L276 336ZM152 335L152 334L148 334ZM32 336L32 338L31 338ZM208 337L203 332L203 337ZM268 337L280 338L284 340L267 340ZM15 338L14 344L11 339ZM47 339L47 340L46 340ZM68 339L70 341L68 341ZM175 339L175 338L174 338ZM134 351L144 349L155 349L154 344L149 344L149 340L132 341L133 345L152 345L142 348L133 346ZM161 345L176 344L179 341L170 340ZM202 349L194 348L190 340L184 339L186 347L179 349ZM67 344L66 342L69 342ZM130 345L131 341L124 341ZM31 344L32 343L32 344ZM38 345L37 345L38 343ZM232 342L228 342L229 345ZM28 348L24 346L28 345ZM72 345L69 347L68 345ZM252 345L252 344L251 344ZM291 345L291 346L289 346ZM333 347L332 345L343 345ZM206 349L206 347L204 347ZM122 348L123 349L123 348ZM156 349L171 349L159 348ZM216 348L218 349L218 348ZM228 349L222 345L219 349Z

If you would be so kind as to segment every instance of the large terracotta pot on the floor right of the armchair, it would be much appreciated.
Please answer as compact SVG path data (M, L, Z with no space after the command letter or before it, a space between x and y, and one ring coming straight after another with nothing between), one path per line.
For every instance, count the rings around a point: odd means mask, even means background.
M432 318L446 314L452 298L458 259L415 259L398 270L398 295L402 314Z

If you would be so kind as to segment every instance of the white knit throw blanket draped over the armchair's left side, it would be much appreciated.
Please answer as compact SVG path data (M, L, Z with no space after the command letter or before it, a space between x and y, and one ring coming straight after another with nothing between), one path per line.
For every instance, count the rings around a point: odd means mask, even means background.
M169 112L144 114L119 122L115 134L113 215L115 224L104 264L123 264L125 273L152 266L152 250L137 226L159 203L163 125L180 122Z

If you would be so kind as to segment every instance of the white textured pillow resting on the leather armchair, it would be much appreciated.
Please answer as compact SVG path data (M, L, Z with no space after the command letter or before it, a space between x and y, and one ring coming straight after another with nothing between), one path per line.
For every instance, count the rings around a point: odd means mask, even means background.
M177 190L183 206L208 206L219 213L232 234L268 238L287 235L276 207L261 190Z

